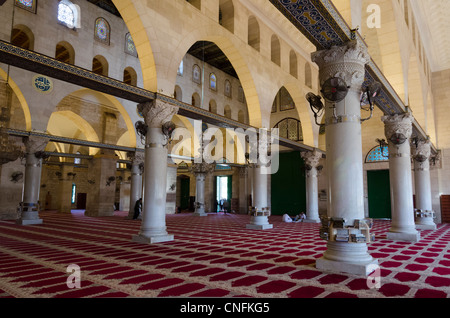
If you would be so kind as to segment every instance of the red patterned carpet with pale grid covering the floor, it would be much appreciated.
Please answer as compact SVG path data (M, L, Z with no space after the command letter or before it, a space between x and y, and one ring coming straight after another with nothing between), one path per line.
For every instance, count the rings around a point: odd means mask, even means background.
M140 221L43 212L44 224L0 221L0 298L264 297L449 298L450 225L422 231L422 240L386 240L388 221L375 221L381 288L365 278L317 270L326 242L319 225L283 223L246 230L242 215L169 215L175 240L131 241ZM67 267L81 269L81 288L67 286Z

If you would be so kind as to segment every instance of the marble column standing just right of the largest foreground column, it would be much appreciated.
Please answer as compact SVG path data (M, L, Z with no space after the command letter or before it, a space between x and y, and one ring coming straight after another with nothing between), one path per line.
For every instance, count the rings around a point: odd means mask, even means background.
M410 113L382 117L389 143L389 181L391 187L391 228L389 240L417 242L420 233L414 223L414 203L411 176L413 117Z

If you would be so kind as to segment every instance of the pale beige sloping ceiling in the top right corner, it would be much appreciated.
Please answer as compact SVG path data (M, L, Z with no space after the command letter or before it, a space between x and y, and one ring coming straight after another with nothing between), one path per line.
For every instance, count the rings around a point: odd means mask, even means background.
M450 68L449 0L411 0L433 72Z

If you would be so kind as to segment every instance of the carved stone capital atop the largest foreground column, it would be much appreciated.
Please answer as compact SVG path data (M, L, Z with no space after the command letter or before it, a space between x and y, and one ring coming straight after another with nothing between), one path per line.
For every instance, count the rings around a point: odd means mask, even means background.
M320 68L321 85L329 78L340 77L347 85L359 89L364 82L364 66L370 61L370 55L363 43L353 40L341 46L313 52L311 59Z

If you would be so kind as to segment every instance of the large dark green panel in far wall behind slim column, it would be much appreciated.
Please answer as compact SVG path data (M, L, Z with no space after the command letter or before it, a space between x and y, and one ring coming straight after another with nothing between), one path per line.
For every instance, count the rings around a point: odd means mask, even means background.
M306 212L304 162L299 151L280 153L279 169L271 178L272 214Z

